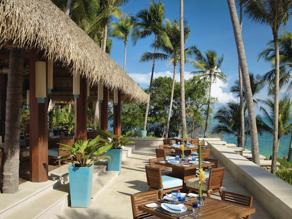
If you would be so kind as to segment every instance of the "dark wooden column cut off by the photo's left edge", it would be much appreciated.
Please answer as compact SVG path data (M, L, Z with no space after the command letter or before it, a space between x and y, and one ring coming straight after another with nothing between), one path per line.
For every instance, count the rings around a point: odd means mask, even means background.
M6 75L0 74L0 136L2 136L0 143L4 142L5 136L6 87Z

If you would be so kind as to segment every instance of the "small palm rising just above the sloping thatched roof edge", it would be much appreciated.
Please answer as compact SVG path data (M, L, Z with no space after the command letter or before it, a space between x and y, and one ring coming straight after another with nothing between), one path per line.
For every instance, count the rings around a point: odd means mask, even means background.
M111 36L116 37L118 39L123 39L125 44L124 49L124 67L123 69L126 70L126 53L127 53L127 43L128 37L130 35L131 29L133 26L133 19L131 17L121 17L120 22L112 23L112 31Z

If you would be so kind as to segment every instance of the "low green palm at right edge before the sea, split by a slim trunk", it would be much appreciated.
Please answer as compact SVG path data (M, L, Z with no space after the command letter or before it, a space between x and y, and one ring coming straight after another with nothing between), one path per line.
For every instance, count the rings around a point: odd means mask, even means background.
M274 132L273 123L275 119L274 102L271 99L262 100L262 102L268 106L269 111L270 111L270 114L269 114L266 108L264 108L263 106L260 107L261 112L263 113L264 117L268 121L267 123L264 124L265 131L268 133L273 133ZM287 96L285 96L283 99L280 99L279 101L279 120L278 120L279 132L277 135L277 149L279 148L280 138L283 135L286 135L292 132L292 123L290 123L291 104L292 104L292 101L290 100L290 97L287 97Z

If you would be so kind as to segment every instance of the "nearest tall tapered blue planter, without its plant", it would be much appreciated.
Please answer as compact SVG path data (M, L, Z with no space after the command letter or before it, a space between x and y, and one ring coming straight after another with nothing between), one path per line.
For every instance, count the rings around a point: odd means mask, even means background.
M90 204L93 167L71 165L68 168L71 207L88 207Z

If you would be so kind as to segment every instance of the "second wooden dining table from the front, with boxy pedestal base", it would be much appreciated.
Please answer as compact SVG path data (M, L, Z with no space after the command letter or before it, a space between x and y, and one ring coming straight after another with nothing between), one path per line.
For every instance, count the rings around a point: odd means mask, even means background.
M183 181L183 184L185 184L188 179L197 177L196 169L199 169L199 164L198 165L182 163L173 164L168 162L167 160L165 160L164 162L156 161L155 164L172 168L172 176L181 179ZM215 165L214 162L202 161L202 168L214 165Z

